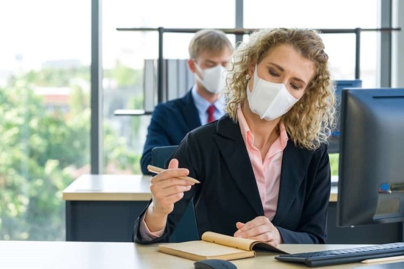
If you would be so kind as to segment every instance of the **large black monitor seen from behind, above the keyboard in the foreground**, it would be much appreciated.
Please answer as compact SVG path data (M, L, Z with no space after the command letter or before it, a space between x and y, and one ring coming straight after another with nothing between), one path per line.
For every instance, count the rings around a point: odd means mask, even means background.
M404 89L344 89L337 225L404 221Z

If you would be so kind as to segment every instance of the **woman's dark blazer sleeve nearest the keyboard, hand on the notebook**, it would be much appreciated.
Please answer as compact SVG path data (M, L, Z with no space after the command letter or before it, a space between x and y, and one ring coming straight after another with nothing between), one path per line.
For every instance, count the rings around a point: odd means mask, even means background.
M291 231L277 226L284 243L324 244L327 238L327 211L331 191L331 169L327 145L324 145L320 152L320 161L315 162L317 168L314 168L315 171L312 174L314 177L307 191L297 230Z

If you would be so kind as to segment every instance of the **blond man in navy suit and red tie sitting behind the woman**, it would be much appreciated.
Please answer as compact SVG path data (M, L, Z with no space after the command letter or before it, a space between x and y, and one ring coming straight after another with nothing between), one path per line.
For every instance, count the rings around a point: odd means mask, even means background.
M154 147L178 145L190 130L225 114L224 96L219 93L225 87L225 66L233 54L232 44L222 31L200 30L188 51L195 84L182 98L155 107L140 160L143 174L150 174L147 166Z

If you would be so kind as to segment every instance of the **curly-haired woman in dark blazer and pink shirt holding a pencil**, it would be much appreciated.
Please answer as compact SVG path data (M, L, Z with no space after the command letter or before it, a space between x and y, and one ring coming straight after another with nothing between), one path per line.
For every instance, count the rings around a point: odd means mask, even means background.
M193 199L199 236L324 243L334 92L318 33L252 33L234 54L227 86L228 114L189 132L152 179L134 240L167 241ZM186 175L200 184L178 178Z

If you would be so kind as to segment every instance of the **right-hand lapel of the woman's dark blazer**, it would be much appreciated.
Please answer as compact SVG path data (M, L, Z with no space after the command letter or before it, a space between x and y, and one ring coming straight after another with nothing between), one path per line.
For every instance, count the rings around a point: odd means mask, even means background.
M289 140L282 156L280 172L279 198L275 217L272 222L280 224L288 214L289 208L296 197L310 164L313 151L297 148Z

